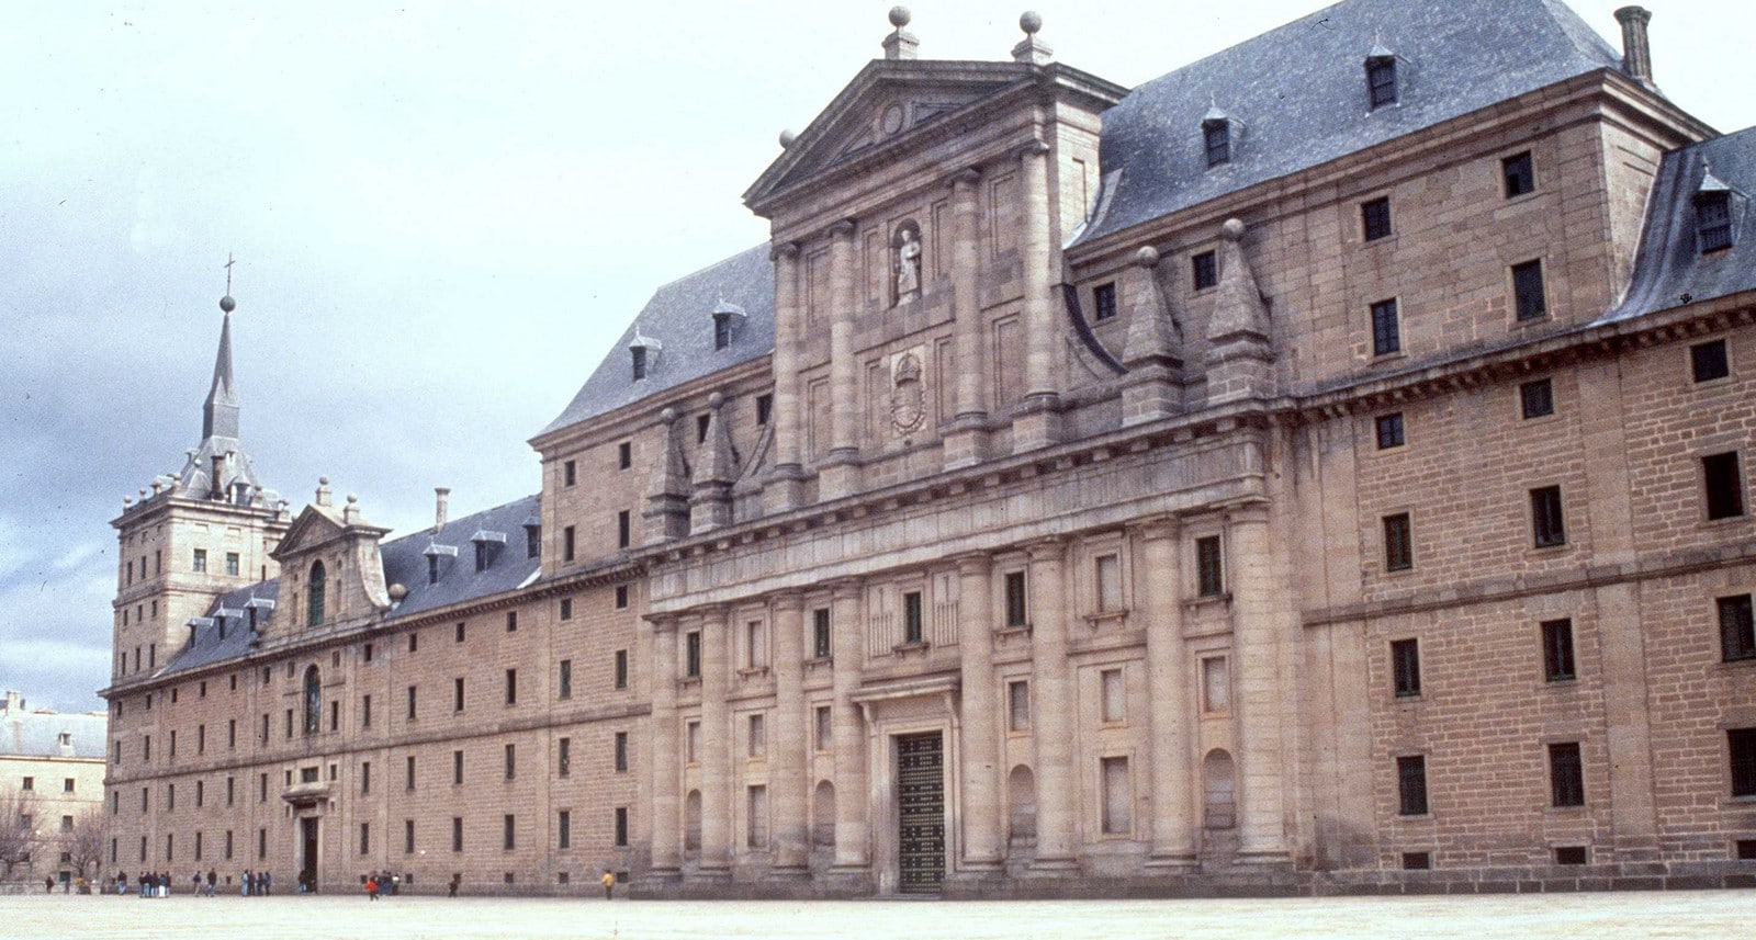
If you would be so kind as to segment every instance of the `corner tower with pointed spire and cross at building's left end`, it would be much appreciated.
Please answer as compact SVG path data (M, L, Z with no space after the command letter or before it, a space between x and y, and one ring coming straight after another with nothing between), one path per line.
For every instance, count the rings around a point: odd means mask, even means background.
M111 521L118 530L112 684L169 663L190 638L190 619L221 591L279 573L269 552L286 533L286 502L263 489L239 438L230 279L227 288L200 445L184 452L179 470L125 496Z

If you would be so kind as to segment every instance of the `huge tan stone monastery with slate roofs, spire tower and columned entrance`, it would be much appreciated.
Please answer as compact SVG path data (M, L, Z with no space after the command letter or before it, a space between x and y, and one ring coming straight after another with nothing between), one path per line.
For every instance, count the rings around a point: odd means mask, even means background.
M1619 19L1347 0L1127 89L896 11L541 493L397 540L260 488L223 333L114 521L111 861L1752 884L1756 132Z

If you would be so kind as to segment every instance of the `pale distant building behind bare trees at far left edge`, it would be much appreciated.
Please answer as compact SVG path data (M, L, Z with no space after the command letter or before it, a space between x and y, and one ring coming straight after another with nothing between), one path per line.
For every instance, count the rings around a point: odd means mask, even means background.
M104 712L0 703L0 891L70 889L104 861Z

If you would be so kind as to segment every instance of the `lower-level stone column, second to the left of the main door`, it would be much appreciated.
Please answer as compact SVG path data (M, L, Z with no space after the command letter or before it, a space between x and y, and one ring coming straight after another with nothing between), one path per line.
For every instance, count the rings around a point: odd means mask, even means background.
M811 737L804 724L804 596L774 598L774 738L767 749L774 793L774 875L810 875L810 831L804 803L804 756Z

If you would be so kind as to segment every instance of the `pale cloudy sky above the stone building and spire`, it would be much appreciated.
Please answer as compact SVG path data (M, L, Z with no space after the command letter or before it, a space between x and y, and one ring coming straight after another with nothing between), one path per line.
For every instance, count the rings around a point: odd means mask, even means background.
M1317 9L1041 7L1140 84ZM1573 7L1619 47L1616 2ZM1744 2L1654 0L1654 72L1756 123ZM739 203L880 56L885 4L39 4L0 26L0 684L102 707L125 493L200 438L227 253L244 447L397 531L537 488L525 440L651 289L766 239ZM915 5L1004 60L1022 4ZM19 18L14 9L14 18ZM1264 63L1268 67L1270 63Z

